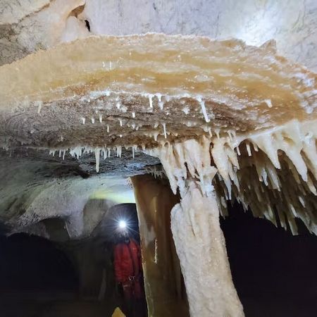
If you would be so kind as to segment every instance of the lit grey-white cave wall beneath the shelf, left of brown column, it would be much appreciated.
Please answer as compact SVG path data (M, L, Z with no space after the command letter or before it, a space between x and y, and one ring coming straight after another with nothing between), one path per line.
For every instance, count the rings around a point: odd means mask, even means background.
M83 239L111 206L134 202L125 177L82 178L72 169L68 160L0 156L0 223L4 227L0 232L28 232L58 240L56 232L65 229L64 236ZM48 219L61 219L65 228L57 228Z

